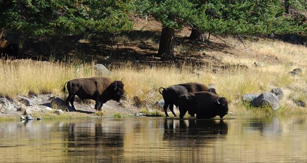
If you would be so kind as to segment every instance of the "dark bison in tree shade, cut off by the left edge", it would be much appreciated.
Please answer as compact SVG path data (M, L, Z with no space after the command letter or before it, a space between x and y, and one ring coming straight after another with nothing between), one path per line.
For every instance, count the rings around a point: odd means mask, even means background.
M0 56L11 56L15 58L18 55L18 51L17 44L10 44L4 38L0 38Z

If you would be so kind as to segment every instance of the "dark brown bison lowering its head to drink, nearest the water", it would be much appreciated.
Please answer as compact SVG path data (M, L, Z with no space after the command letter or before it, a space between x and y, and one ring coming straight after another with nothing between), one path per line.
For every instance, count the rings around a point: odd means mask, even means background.
M207 91L180 95L178 106L180 118L183 118L187 111L196 113L196 118L214 118L217 115L223 118L228 113L226 98L218 97L218 95Z

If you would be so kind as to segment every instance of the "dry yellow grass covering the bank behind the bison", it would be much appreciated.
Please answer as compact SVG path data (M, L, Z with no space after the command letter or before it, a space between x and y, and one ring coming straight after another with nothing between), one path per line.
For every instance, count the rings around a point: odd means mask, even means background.
M122 78L125 84L127 100L133 101L138 96L140 101L150 106L157 99L162 99L158 88L168 87L179 83L196 81L203 84L215 84L217 93L226 97L230 102L230 111L237 114L259 113L254 109L247 109L242 104L242 96L247 93L260 94L279 87L285 90L285 97L281 101L281 113L307 112L297 107L293 101L307 102L307 48L278 41L248 42L250 49L245 51L238 46L235 51L240 55L227 55L223 52L206 52L215 55L224 63L244 64L248 69L228 69L213 73L210 66L197 72L191 70L188 64L178 69L168 67L145 67L137 69L132 63L122 63L111 69L110 76L114 80ZM253 55L279 57L280 62L263 61L262 67L255 67ZM257 58L257 57L256 57ZM14 97L18 94L27 95L29 92L51 92L61 94L65 81L96 76L94 63L51 63L41 61L0 61L0 95ZM300 76L290 76L289 71L296 67L303 69ZM145 105L142 105L145 106Z

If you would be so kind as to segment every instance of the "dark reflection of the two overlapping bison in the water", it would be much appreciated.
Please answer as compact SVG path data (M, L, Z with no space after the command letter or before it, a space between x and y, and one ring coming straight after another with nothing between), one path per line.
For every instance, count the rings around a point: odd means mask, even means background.
M170 146L201 146L227 133L228 125L222 120L165 119L163 140Z

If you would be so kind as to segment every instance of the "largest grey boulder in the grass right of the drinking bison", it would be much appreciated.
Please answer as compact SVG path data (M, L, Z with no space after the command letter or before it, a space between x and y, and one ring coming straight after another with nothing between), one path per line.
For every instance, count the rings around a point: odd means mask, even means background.
M252 102L251 105L255 107L262 107L263 105L270 106L272 110L277 110L279 108L279 99L278 97L270 92L265 92L258 97L256 97Z

